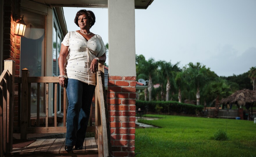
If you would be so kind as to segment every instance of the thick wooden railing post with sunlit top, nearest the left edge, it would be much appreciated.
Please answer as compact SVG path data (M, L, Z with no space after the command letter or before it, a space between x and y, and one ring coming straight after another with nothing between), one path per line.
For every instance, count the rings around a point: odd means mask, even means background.
M7 69L10 73L10 80L8 80L9 88L9 102L7 103L7 148L6 151L10 152L13 150L13 112L14 112L14 75L15 75L15 61L12 59L6 59L4 61L4 69Z

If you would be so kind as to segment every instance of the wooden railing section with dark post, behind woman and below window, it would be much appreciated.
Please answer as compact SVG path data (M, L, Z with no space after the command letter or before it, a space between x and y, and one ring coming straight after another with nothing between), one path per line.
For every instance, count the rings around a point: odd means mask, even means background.
M22 69L22 77L15 77L15 83L18 84L18 127L13 128L14 133L20 133L21 139L27 139L27 134L47 134L47 133L65 133L66 132L66 91L63 93L63 127L57 126L57 86L58 77L29 77L29 70ZM37 127L31 127L31 83L37 83ZM40 127L40 83L45 87L45 127ZM54 127L49 127L49 83L53 83L54 88ZM50 104L51 105L51 104ZM89 132L95 129L88 127Z

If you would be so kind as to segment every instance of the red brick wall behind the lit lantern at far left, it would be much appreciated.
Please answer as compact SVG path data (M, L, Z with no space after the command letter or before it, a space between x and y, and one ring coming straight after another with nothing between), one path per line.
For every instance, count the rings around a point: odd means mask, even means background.
M4 0L3 4L3 60L11 58L15 61L15 77L19 77L19 56L20 56L20 37L14 35L14 17L20 17L20 0ZM17 126L17 90L15 86L14 102L14 126Z

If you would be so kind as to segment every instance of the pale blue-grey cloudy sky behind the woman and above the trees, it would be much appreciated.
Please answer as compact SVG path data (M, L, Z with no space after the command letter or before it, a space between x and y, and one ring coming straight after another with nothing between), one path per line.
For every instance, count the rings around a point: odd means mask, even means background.
M91 31L108 43L107 8L64 8L67 30L79 30L73 21L80 9L95 13ZM256 66L256 1L154 0L135 10L135 45L146 59L179 67L200 62L218 76L242 74Z

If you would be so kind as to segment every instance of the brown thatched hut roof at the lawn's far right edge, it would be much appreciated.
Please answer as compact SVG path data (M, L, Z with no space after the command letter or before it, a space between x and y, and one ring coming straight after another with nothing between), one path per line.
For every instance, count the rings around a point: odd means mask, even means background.
M253 90L238 90L231 96L221 99L222 104L237 104L244 106L246 103L253 103L256 101L256 91Z

